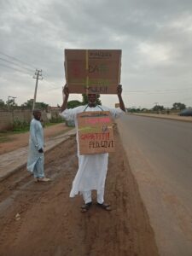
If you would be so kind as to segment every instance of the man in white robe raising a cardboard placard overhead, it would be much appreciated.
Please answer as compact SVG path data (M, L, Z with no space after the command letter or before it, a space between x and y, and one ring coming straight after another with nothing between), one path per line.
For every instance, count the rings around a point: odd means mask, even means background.
M82 140L90 138L90 148L106 148L110 145L112 147L112 142L110 140L110 117L119 117L125 112L125 105L121 97L122 86L119 85L117 89L117 95L119 97L119 107L120 108L107 108L104 106L96 105L96 94L88 94L88 105L79 106L77 108L67 109L67 101L69 96L69 90L67 85L63 89L63 103L61 106L61 115L67 120L73 120L77 129L77 143L78 143L78 157L79 157L79 170L73 180L73 188L70 193L70 197L78 195L79 192L83 194L84 206L82 206L81 211L87 212L87 210L92 205L91 190L97 191L97 206L110 211L110 205L104 202L104 188L105 180L108 172L108 153L100 154L80 154L79 151L79 136ZM86 113L85 123L87 126L82 126L81 121L79 121L82 113ZM92 115L91 115L92 113ZM94 117L94 118L93 118ZM83 119L85 119L83 118ZM100 131L100 126L94 126L95 124L102 124L103 131ZM104 125L103 125L104 124ZM88 132L83 132L88 129ZM92 129L96 129L94 133L90 133ZM103 143L104 142L104 143ZM94 145L94 146L93 146ZM106 151L104 151L106 152Z

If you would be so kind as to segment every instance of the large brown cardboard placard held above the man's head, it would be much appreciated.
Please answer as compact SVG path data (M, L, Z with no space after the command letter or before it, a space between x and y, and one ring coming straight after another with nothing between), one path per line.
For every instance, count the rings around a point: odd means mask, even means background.
M117 93L121 49L65 49L64 66L70 93Z

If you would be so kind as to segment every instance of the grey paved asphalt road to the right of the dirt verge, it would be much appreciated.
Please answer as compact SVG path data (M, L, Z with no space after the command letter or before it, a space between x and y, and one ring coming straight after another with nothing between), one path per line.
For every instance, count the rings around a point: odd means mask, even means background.
M160 255L192 255L192 123L125 115L122 142Z

